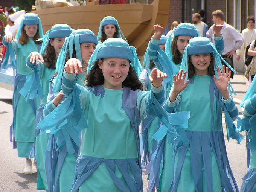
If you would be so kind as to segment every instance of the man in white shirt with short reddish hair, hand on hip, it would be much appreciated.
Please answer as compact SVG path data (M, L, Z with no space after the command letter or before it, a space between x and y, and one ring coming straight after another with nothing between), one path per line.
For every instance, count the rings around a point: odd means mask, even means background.
M224 21L224 13L221 10L212 12L212 21L214 24L224 25L221 29L225 46L222 57L233 67L233 54L242 46L244 37L234 27ZM206 36L210 38L212 42L214 41L213 26L207 31ZM232 72L231 78L233 78L233 76L234 73Z

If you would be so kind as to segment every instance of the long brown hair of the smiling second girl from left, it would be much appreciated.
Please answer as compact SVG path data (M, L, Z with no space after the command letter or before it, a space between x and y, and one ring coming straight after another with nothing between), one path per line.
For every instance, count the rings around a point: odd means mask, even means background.
M54 38L51 39L52 41ZM50 41L46 47L46 52L43 56L44 61L46 62L44 65L50 69L55 69L55 63L56 63L56 55L55 55L55 50L54 47L51 45Z

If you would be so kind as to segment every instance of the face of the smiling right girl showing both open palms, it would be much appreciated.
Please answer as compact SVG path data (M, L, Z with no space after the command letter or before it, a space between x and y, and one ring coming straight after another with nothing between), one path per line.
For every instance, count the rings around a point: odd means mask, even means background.
M208 75L210 61L210 53L191 55L191 62L195 68L195 75Z

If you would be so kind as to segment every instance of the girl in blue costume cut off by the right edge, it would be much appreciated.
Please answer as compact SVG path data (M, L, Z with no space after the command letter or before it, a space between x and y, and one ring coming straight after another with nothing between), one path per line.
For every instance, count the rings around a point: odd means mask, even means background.
M254 192L256 190L256 79L253 78L250 88L247 90L241 102L244 118L238 120L239 131L247 131L250 141L250 165L247 173L242 178L241 192ZM249 158L249 157L247 157Z

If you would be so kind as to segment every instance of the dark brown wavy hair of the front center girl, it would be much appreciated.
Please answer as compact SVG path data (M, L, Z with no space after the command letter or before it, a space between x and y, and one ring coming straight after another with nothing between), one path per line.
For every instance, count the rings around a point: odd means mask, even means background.
M101 59L103 62L103 59ZM87 74L85 82L86 86L92 87L96 85L102 85L104 83L104 76L102 69L99 69L99 59L94 62L93 67L90 72ZM133 67L129 66L129 72L126 79L122 83L123 86L131 88L131 90L142 90L142 83L137 78L136 73L133 70Z

